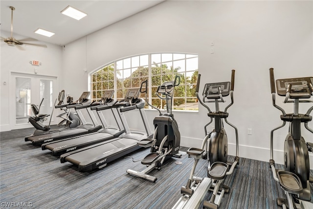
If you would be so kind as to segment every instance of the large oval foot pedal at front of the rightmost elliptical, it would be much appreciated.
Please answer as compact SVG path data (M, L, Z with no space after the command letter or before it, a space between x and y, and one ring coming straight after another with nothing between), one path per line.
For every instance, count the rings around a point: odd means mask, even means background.
M285 170L277 171L280 186L287 192L292 194L302 193L302 184L297 175Z

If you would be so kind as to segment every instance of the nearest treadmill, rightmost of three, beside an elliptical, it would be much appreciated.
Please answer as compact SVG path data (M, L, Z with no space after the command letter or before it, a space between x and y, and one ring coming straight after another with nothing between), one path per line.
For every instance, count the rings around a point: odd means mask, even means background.
M144 112L145 100L138 98L140 89L130 89L125 99L120 100L112 107L98 107L97 110L117 108L120 119L126 131L120 138L111 139L94 144L79 150L68 152L60 156L61 163L69 162L78 166L80 171L91 171L95 168L103 168L124 155L127 155L141 147L137 145L142 139L152 138L147 116ZM124 112L138 109L145 127L145 133L131 132Z

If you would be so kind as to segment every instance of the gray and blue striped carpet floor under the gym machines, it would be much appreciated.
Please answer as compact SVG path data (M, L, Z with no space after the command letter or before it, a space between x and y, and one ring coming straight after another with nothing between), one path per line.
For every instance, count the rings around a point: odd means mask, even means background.
M1 208L11 204L14 208L36 209L170 209L179 199L180 187L185 186L193 164L187 155L172 158L161 170L150 173L157 177L156 183L127 174L127 169L145 168L131 158L118 159L102 170L79 172L71 163L60 163L49 150L25 142L24 137L33 131L29 128L0 133ZM129 156L140 160L149 152L149 148L140 149ZM230 161L233 158L229 156ZM201 160L196 175L205 177L206 167L207 162ZM224 184L230 186L230 191L224 195L222 209L276 209L280 208L276 197L284 197L268 162L240 158L240 165ZM211 192L205 198L210 196Z

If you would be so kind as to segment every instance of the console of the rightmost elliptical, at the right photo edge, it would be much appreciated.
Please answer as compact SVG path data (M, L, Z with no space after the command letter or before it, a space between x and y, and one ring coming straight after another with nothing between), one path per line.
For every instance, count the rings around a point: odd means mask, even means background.
M313 77L277 79L277 94L286 96L288 85L291 84L290 98L310 98L311 92L307 84L313 84Z

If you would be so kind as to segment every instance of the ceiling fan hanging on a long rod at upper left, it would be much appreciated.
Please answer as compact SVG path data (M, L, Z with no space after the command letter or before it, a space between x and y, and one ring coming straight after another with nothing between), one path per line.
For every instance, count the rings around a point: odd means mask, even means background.
M7 43L7 45L9 46L17 46L19 49L23 48L20 45L33 45L33 46L41 46L41 47L47 47L46 45L41 45L41 44L32 44L32 43L26 43L25 41L38 41L37 39L33 39L33 38L25 38L25 39L21 39L21 40L16 40L15 38L13 38L13 11L15 10L15 8L13 6L10 6L11 9L11 36L8 38L3 38L0 37L0 40Z

